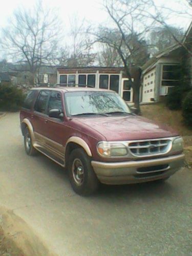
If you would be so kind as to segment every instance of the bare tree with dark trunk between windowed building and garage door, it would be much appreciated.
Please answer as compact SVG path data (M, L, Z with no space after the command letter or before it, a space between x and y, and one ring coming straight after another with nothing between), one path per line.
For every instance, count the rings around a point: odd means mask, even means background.
M118 53L125 74L133 88L137 113L140 114L140 66L149 57L144 36L148 28L153 27L154 20L146 23L146 18L143 15L143 10L148 8L147 1L106 0L104 8L114 26L112 28L100 27L96 34L96 41L107 44ZM132 80L133 73L134 81Z

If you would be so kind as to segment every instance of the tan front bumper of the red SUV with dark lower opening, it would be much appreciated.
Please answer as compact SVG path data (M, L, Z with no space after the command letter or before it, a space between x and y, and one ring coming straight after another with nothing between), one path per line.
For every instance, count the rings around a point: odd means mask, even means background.
M104 184L131 184L173 175L184 165L184 154L158 159L126 162L91 162L93 169Z

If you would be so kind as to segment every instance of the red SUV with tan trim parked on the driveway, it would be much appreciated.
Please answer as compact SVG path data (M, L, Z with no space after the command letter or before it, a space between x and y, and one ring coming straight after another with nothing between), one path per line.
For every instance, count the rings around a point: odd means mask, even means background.
M132 114L109 90L32 89L20 123L26 153L39 151L66 167L79 195L93 193L99 182L165 180L184 163L178 133Z

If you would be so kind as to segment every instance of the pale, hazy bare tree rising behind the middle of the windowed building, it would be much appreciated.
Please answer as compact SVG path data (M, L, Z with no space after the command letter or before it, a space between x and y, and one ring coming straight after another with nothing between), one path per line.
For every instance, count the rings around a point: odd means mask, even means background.
M87 34L88 25L85 19L80 19L78 15L73 15L70 20L70 33L68 44L61 49L59 58L60 65L68 67L90 66L95 61L90 44L90 35Z

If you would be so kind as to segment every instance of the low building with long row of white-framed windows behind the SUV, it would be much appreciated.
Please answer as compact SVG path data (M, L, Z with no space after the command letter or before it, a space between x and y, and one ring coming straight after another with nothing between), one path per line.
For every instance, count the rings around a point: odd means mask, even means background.
M133 89L123 68L84 67L57 69L57 84L66 87L92 87L117 92L127 103L133 102ZM134 76L132 78L134 80Z

